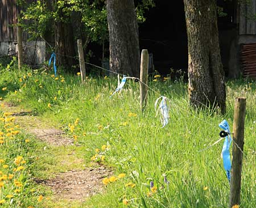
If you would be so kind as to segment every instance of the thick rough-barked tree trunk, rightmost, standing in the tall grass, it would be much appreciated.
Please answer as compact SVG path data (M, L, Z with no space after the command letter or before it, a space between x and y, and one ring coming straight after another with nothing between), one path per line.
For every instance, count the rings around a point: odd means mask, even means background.
M191 105L226 109L225 75L218 43L215 0L184 0L188 34L188 94Z

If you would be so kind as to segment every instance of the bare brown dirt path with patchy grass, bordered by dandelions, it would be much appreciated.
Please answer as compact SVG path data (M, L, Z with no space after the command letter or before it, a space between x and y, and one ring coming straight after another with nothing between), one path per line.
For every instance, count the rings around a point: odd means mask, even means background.
M40 118L33 116L32 112L19 109L10 104L5 104L5 112L13 113L15 121L27 133L35 135L40 141L46 142L48 145L55 148L63 146L73 146L73 139L69 138L64 131L48 126L40 120ZM67 157L76 157L76 152L70 155L63 155L62 165L66 165L70 171L63 173L56 173L52 179L41 180L35 179L35 182L43 184L51 188L53 198L61 201L68 200L72 204L72 200L85 201L86 198L100 193L103 190L102 178L110 175L109 170L100 166L96 168L82 168L80 170L69 168L71 163L68 162ZM54 157L55 155L53 155ZM72 158L73 160L73 158ZM84 165L84 160L75 158L75 163Z

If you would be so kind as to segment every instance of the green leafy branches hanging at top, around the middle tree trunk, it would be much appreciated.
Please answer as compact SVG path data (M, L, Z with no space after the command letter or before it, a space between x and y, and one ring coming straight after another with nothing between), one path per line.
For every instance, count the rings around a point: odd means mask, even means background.
M108 23L106 5L102 0L60 0L50 1L37 0L26 5L20 3L25 9L22 12L22 26L30 34L31 39L44 37L47 32L53 32L53 26L57 22L67 22L76 13L81 17L82 35L89 41L108 40ZM144 12L154 7L154 1L142 0L138 2L137 17L139 22L144 22ZM51 8L51 9L49 9ZM76 17L77 18L77 17ZM75 19L77 21L77 19Z

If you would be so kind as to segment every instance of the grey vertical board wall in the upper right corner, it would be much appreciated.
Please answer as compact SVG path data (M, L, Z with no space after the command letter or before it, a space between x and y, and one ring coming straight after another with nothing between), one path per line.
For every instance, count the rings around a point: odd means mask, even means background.
M240 35L255 35L256 34L256 0L251 0L249 3L241 3L239 16L239 34Z

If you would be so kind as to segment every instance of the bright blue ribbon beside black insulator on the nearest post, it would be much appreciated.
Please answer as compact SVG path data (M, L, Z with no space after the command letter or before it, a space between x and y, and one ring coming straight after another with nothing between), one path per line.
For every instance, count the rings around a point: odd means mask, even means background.
M221 155L222 155L222 159L223 159L223 166L226 171L226 176L228 177L228 180L230 182L231 159L230 159L229 148L232 143L232 137L230 135L228 121L223 120L218 126L220 126L220 128L224 129L224 131L226 131L226 133L228 133L228 135L225 137Z

